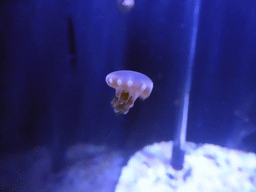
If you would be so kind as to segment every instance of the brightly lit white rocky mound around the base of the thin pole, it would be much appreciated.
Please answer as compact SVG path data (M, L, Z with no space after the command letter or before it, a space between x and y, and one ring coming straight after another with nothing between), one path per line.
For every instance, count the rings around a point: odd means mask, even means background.
M256 155L212 144L186 144L184 169L169 162L172 141L136 152L122 169L116 192L255 192Z

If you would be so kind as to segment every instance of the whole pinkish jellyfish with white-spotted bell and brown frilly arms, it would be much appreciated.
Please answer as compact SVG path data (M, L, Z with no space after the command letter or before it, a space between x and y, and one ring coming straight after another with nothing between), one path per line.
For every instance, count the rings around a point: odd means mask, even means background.
M111 104L117 114L127 114L138 97L148 98L153 89L153 82L148 76L129 70L109 73L106 83L116 90Z

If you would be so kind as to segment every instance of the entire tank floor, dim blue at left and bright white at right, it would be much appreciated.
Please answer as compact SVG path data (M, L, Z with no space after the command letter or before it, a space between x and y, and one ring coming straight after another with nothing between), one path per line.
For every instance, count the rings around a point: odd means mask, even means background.
M170 166L172 141L145 146L124 165L124 153L78 144L67 166L51 174L45 147L4 157L1 192L256 192L256 155L212 144L188 142L184 169Z

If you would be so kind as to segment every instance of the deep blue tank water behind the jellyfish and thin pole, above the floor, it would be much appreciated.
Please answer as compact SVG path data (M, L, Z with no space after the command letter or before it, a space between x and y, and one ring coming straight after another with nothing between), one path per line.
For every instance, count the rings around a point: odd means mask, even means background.
M61 156L78 142L135 150L174 139L192 1L137 0L129 12L105 0L1 2L1 153L47 145ZM255 11L254 0L201 2L189 141L256 152ZM115 116L105 76L121 69L148 75L154 89Z

